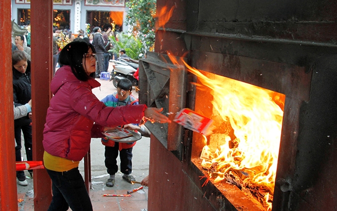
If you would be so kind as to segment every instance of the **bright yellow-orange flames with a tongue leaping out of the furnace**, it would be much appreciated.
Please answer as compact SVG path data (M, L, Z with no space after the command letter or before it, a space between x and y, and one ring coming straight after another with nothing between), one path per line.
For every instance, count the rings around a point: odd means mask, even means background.
M175 65L179 65L171 53L167 55ZM211 156L203 159L202 166L208 169L216 166L215 172L210 174L210 177L215 178L215 183L226 179L225 174L230 170L237 170L247 175L243 184L263 185L272 195L285 95L215 74L210 79L205 75L210 73L202 74L184 60L182 62L188 71L198 77L200 83L210 88L213 96L213 117L229 123L235 136L233 139L228 134L210 135L210 146L206 145L205 140L203 150ZM269 192L264 194L264 205L271 210Z

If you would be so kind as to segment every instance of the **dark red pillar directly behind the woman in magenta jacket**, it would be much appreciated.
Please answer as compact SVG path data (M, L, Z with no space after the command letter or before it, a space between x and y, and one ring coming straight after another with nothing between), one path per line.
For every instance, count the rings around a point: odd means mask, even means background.
M43 160L43 129L50 99L53 69L53 0L31 1L33 160ZM34 170L34 209L47 210L51 180L44 169Z

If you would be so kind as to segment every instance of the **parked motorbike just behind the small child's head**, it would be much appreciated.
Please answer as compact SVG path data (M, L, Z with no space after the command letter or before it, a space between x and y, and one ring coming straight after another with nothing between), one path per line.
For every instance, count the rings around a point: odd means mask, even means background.
M115 64L113 65L110 81L112 80L112 83L116 88L118 81L123 78L129 79L133 86L138 86L138 80L133 77L133 73L135 73L138 68L137 63L127 62L125 60L112 60L112 62Z

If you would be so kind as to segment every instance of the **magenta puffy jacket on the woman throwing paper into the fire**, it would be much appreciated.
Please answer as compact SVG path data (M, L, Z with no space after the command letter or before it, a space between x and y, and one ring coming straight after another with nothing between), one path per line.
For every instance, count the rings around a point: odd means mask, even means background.
M62 66L51 81L50 100L43 131L43 147L51 155L80 161L91 138L102 138L104 126L139 124L145 104L106 107L92 92L101 84L93 78L78 80L70 66ZM95 125L94 125L95 122Z

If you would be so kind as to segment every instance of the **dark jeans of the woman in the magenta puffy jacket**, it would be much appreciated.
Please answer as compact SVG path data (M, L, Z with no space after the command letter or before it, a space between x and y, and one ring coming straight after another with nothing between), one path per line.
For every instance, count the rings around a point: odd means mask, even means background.
M53 191L48 211L66 211L69 206L72 211L93 210L93 205L78 167L63 172L46 170L51 178Z

